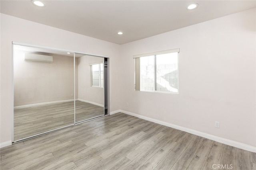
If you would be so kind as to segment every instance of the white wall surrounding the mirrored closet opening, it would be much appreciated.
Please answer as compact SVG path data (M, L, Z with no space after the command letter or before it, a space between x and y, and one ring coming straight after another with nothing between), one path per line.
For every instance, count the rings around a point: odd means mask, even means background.
M12 41L110 57L110 111L120 109L120 45L1 14L0 143L12 140Z

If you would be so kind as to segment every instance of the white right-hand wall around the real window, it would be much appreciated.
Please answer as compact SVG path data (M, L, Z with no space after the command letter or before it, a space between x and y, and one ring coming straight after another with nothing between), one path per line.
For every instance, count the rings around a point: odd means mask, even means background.
M121 47L122 110L256 147L256 9ZM133 55L176 48L180 94L134 91Z

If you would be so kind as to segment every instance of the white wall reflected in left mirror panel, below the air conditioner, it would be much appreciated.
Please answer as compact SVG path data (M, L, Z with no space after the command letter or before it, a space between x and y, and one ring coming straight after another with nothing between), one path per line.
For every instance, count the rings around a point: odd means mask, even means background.
M53 55L52 63L24 61L14 51L14 107L74 99L74 58Z

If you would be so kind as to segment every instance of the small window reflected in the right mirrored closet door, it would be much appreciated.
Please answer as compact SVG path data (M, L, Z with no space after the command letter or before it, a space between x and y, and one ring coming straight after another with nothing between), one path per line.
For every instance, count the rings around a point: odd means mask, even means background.
M103 87L103 63L92 64L92 86Z

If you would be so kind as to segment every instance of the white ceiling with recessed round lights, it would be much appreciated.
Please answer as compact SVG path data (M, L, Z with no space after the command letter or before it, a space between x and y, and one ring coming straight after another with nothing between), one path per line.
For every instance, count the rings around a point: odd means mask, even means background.
M1 0L1 13L116 44L256 7L256 0ZM198 8L186 6L198 3ZM123 35L117 32L122 31Z

